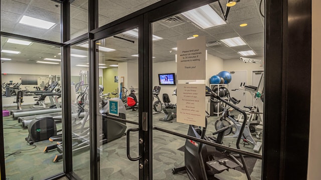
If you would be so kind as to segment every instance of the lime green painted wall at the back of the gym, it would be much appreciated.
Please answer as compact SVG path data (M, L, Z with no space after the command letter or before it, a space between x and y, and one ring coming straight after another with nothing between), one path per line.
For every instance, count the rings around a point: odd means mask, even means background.
M103 69L104 94L113 92L115 89L117 89L118 83L114 82L115 76L118 76L118 68Z

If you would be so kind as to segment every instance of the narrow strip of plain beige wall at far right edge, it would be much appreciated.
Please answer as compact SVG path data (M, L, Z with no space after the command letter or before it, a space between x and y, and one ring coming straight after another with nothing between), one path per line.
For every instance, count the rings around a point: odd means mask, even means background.
M321 22L319 11L321 1L312 0L312 72L311 72L311 107L310 107L310 134L309 134L309 154L307 179L321 179L321 120L319 110L321 99L319 91L321 89Z

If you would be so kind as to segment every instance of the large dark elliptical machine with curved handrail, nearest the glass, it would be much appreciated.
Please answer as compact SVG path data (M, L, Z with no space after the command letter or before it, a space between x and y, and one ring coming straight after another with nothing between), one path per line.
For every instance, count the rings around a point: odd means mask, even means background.
M207 87L207 92L209 92L214 98L223 101L224 103L227 103L231 107L233 107L235 110L239 111L244 115L244 122L242 124L241 132L243 132L245 128L245 124L247 122L247 115L246 113L238 108L237 106L231 104L230 102L226 101L225 99L219 97L216 93L211 91L209 87ZM208 116L207 116L208 117ZM207 118L206 117L206 118ZM224 137L224 131L231 128L232 125L226 126L218 131L215 132L215 134L218 134L218 136L215 137L207 137L205 135L206 128L207 128L207 120L206 120L206 126L201 130L199 127L190 125L188 130L188 135L197 137L200 139L204 139L207 141L211 141L214 143L222 144L222 140ZM242 133L241 133L242 134ZM236 147L240 149L240 140L241 136L238 136ZM215 157L214 152L219 151L226 155L225 158L218 159ZM174 168L172 169L172 172L174 174L186 171L190 177L190 179L204 179L207 180L209 178L215 178L214 175L216 173L223 172L224 170L228 170L229 168L236 168L238 166L242 167L245 172L248 179L251 179L248 168L246 166L244 156L240 154L241 162L234 159L230 152L226 151L225 149L221 148L215 148L206 144L203 144L202 142L196 142L191 139L186 139L185 141L185 166ZM232 156L231 156L232 155Z

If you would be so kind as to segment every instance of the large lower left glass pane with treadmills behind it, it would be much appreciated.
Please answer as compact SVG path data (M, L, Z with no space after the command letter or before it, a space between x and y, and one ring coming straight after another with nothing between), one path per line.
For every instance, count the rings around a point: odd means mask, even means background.
M62 133L60 48L6 37L1 44L6 177L60 173L62 161L53 162L57 142L49 140Z

